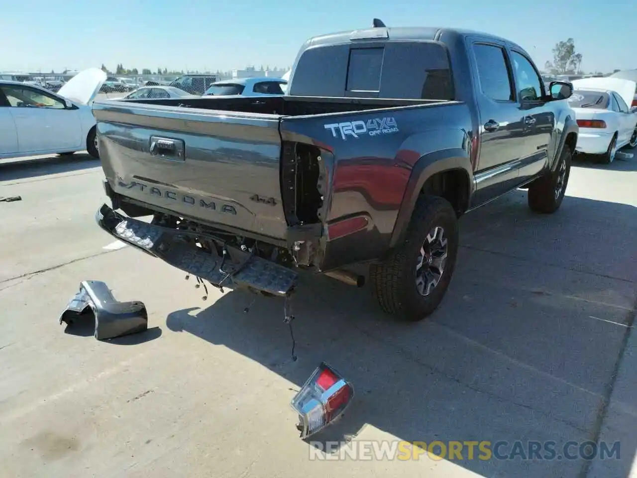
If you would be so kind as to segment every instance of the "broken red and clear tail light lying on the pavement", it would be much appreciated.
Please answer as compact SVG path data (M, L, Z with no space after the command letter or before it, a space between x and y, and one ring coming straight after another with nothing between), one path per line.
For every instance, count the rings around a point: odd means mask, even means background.
M326 363L312 373L299 393L292 398L292 408L299 414L298 430L307 438L341 416L354 397L354 387Z

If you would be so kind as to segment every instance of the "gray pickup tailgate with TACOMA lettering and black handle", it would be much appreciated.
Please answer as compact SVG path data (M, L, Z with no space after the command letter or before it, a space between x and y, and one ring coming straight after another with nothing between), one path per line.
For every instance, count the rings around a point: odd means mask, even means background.
M100 101L99 156L114 192L283 239L280 117Z

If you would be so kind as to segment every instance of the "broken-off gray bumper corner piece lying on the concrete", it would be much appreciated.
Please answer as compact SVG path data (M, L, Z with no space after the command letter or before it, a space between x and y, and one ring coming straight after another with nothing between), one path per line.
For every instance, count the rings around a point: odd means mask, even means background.
M80 290L69 301L59 322L71 326L89 311L95 318L94 336L97 340L122 337L148 329L148 312L144 303L115 300L106 283L99 280L80 282Z

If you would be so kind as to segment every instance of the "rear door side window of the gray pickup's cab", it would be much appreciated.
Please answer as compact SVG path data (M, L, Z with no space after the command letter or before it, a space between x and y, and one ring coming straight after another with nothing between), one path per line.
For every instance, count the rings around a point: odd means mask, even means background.
M505 50L494 45L473 45L480 90L496 101L515 101L506 66Z

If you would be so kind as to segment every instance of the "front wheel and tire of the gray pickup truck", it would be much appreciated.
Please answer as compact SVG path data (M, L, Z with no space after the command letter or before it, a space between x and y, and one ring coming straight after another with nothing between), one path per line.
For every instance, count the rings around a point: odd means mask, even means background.
M555 171L549 171L529 185L527 199L529 208L533 212L553 214L562 205L568 178L571 175L571 161L573 161L573 152L564 145Z

